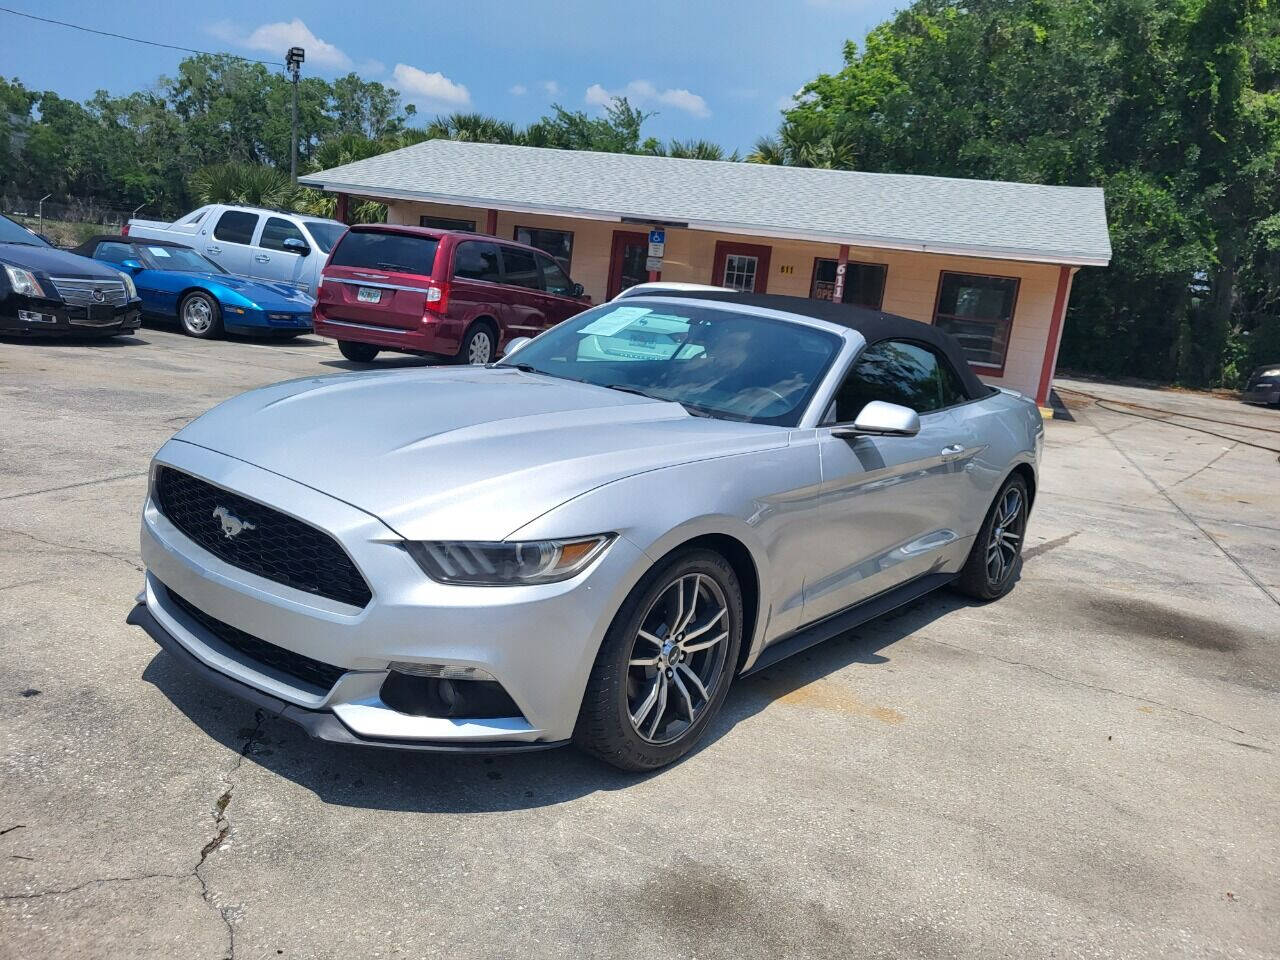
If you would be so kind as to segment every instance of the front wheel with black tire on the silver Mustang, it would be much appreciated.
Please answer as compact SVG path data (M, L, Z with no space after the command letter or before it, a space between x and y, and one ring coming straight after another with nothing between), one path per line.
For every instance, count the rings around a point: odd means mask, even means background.
M698 594L703 604L701 613L696 613L698 607L694 604L696 614L685 621L681 632L671 630L678 625L678 612L673 612L677 589L681 591L681 603L684 596ZM721 605L724 612L713 616ZM687 607L684 609L687 612ZM719 623L722 617L728 620L727 628ZM650 646L650 641L641 637L641 630L646 625L654 627L659 621L663 622L655 627L657 637L663 643ZM648 630L645 632L654 635ZM690 636L676 643L685 632ZM726 636L714 641L721 634ZM713 644L705 646L709 640ZM685 644L690 645L689 653L684 652ZM713 550L686 549L672 554L636 584L614 616L586 681L573 742L625 771L652 771L677 760L698 742L719 713L737 672L741 644L742 590L733 568ZM705 649L694 650L695 646ZM667 653L668 648L671 654ZM641 650L643 657L653 652L657 662L652 666L634 666L632 657ZM675 658L675 669L662 666L667 663L668 655ZM664 681L659 675L671 680ZM698 692L699 686L694 685L690 675L698 678L705 696ZM668 703L666 695L658 694L659 689L669 690L673 699ZM641 722L636 724L632 719L632 700L637 701L635 712L640 713L648 696L654 695L659 700L654 701L650 712L643 714ZM653 721L654 709L658 710L657 721ZM668 717L666 723L664 717ZM652 736L643 735L641 730L650 721Z

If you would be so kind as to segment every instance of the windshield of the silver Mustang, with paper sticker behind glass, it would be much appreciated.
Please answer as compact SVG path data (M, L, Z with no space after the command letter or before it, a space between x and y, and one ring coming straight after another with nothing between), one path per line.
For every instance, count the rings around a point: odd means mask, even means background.
M840 344L803 324L635 298L579 314L499 366L676 401L704 416L795 426Z

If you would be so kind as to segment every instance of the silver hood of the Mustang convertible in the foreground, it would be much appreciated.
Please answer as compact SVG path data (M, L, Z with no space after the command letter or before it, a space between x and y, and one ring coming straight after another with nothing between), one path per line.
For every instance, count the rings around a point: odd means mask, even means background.
M602 484L787 436L539 374L443 367L275 384L177 439L337 497L411 540L500 540Z

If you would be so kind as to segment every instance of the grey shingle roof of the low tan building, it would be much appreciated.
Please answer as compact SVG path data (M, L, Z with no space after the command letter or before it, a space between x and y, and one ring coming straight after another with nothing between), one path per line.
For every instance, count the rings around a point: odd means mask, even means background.
M298 178L330 191L963 256L1105 265L1102 191L429 140Z

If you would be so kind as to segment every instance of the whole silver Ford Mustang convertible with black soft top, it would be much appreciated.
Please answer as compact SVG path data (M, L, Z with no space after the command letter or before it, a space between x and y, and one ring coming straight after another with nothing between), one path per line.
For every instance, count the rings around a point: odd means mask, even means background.
M129 622L323 740L650 769L737 676L940 586L1006 593L1042 439L933 326L632 297L488 367L193 421L152 463Z

